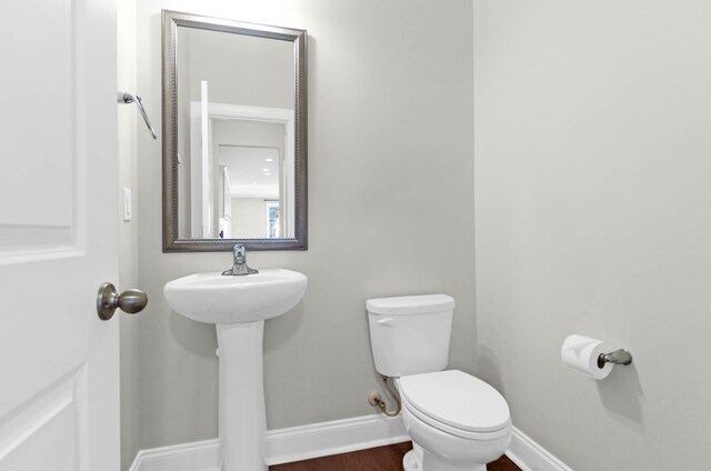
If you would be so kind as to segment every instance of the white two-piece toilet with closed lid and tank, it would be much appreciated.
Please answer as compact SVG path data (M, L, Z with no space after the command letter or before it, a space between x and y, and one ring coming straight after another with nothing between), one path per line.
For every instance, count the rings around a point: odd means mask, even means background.
M454 299L370 299L370 342L380 374L393 378L414 449L405 471L485 471L511 441L509 405L491 385L444 370Z

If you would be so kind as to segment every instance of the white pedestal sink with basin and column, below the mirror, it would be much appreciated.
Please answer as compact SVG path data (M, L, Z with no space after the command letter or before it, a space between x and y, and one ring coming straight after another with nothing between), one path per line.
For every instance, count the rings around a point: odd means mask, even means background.
M308 279L271 269L243 277L197 273L166 284L168 304L184 317L216 324L219 360L221 471L267 471L264 462L264 319L303 297Z

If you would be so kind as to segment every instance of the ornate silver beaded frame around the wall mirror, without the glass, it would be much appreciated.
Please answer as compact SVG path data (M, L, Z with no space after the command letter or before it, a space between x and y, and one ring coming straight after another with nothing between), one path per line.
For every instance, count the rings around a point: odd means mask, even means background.
M184 239L179 236L178 208L178 27L290 41L294 53L294 210L293 237L280 239ZM236 61L239 58L234 58ZM243 23L163 10L163 252L307 249L307 31Z

